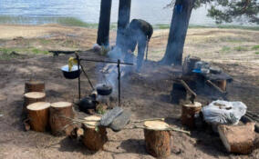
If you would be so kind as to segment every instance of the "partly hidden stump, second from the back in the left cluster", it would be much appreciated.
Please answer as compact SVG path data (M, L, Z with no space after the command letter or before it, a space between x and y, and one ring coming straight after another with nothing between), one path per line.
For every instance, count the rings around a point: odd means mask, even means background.
M41 92L30 92L24 94L24 107L23 112L27 113L26 106L36 102L45 102L46 94Z

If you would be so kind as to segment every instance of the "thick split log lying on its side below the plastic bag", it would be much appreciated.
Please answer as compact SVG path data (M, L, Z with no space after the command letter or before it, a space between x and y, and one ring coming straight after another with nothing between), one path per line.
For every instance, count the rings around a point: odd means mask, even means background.
M245 125L219 125L218 132L230 153L250 154L254 149L254 123Z

